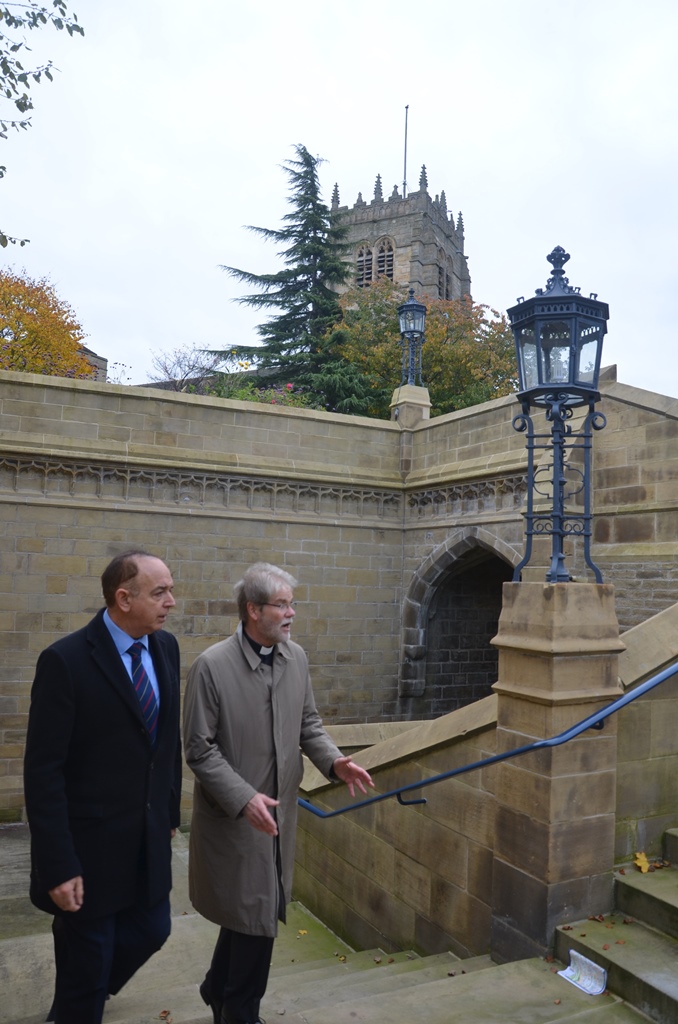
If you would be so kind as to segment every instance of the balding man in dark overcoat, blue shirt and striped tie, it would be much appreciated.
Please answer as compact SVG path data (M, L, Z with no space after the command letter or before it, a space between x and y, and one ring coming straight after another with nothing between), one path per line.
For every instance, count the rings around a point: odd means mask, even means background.
M38 660L26 743L31 899L54 915L56 1024L100 1024L170 933L179 651L164 562L118 555L107 607Z

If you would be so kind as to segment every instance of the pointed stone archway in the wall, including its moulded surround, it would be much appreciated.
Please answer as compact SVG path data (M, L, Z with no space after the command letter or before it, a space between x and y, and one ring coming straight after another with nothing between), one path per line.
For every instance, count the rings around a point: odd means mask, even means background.
M414 573L402 609L399 711L437 718L491 692L502 585L520 552L490 531L458 530Z

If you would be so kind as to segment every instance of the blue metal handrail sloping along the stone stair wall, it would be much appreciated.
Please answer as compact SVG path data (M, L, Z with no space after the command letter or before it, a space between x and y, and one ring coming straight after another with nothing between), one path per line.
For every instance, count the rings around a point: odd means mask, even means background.
M334 818L338 814L346 814L347 811L357 811L361 807L369 807L371 804L378 804L382 800L388 800L390 797L395 797L399 804L404 806L409 806L412 804L425 804L426 798L421 797L418 800L404 800L402 794L410 793L412 790L423 790L427 785L433 785L434 782L441 782L446 778L453 778L455 775L463 775L468 771L475 771L476 768L486 768L489 765L499 764L500 761L508 761L509 758L515 758L519 754L529 754L532 751L543 751L549 746L560 746L561 743L566 743L570 739L575 739L582 732L586 732L587 729L602 729L604 720L609 718L616 712L621 711L628 703L633 700L637 700L648 690L654 689L660 683L666 682L671 676L675 676L678 673L678 662L675 665L670 666L668 669L664 669L663 672L658 673L650 679L641 683L640 686L636 686L633 690L629 690L624 696L618 697L606 708L601 709L601 711L595 712L593 715L589 715L588 718L582 719L577 725L573 725L569 729L565 729L557 736L551 736L549 739L538 739L534 743L525 743L524 746L516 746L512 751L505 751L504 754L495 754L491 758L483 758L482 761L474 761L472 764L464 765L463 768L452 768L450 771L442 772L440 775L432 775L430 778L422 779L421 782L410 782L408 785L401 785L397 790L389 790L388 793L380 793L376 797L369 797L367 800L359 800L357 803L347 804L346 807L339 807L334 811L323 811L320 807L315 807L313 804L309 803L307 800L302 800L301 797L298 799L299 807L305 808L314 814L319 818Z

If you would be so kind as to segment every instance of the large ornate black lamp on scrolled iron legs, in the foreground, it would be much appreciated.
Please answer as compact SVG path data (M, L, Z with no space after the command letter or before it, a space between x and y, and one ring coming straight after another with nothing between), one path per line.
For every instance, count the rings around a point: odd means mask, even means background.
M583 537L584 557L602 583L600 569L591 559L591 447L593 430L602 430L606 420L596 413L600 400L598 375L602 340L609 317L607 303L595 293L589 298L569 285L563 265L569 254L556 246L547 257L553 266L546 288L534 298L518 299L507 310L518 360L522 413L513 419L516 430L527 435L527 511L525 554L513 574L520 579L532 556L533 538L551 535L551 565L548 583L567 583L571 577L564 565L565 537ZM575 432L568 422L573 412L587 406L581 428ZM550 433L535 433L529 416L532 407L544 409L551 423ZM536 453L546 452L551 461L536 469ZM550 472L551 478L545 475ZM535 512L535 493L552 497L552 508ZM577 501L579 509L568 511Z

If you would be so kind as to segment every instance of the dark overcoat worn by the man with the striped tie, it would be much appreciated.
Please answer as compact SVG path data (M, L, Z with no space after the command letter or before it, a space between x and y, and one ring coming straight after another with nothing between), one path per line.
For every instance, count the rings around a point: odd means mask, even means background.
M103 610L38 660L26 745L31 899L81 874L98 918L169 893L170 833L179 823L179 650L164 631L149 646L160 689L155 749Z

